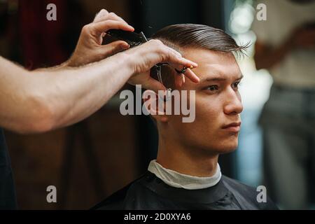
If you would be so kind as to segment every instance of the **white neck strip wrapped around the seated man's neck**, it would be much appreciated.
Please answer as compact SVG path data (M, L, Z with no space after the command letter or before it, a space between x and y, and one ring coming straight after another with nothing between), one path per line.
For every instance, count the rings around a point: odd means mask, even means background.
M221 180L221 169L217 165L214 176L198 177L180 174L172 169L162 167L156 160L152 160L148 166L148 171L158 176L164 183L174 188L184 188L197 190L215 186Z

